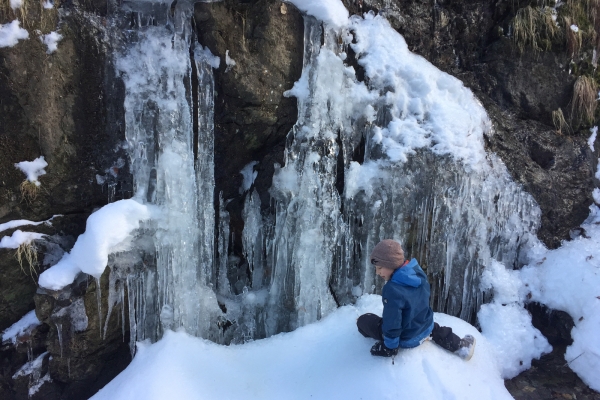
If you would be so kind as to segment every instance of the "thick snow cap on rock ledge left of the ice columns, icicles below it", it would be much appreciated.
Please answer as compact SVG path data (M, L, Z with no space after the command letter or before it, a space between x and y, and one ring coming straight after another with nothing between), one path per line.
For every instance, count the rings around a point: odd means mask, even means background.
M72 283L82 271L99 278L106 268L108 255L129 250L140 221L150 216L150 208L133 199L105 205L89 216L85 232L77 238L71 252L40 275L39 285L59 290Z

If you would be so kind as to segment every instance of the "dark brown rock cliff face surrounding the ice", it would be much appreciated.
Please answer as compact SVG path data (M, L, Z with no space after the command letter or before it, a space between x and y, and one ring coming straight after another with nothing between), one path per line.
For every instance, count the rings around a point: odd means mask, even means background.
M542 209L540 238L549 247L567 239L587 216L590 194L599 183L593 177L599 150L587 145L590 124L571 118L573 85L584 71L589 74L591 43L574 57L564 38L556 39L550 51L520 53L506 33L517 10L529 4L525 1L344 3L351 13L386 15L411 50L476 94L494 123L488 150L502 158ZM131 196L122 148L124 89L114 79L104 38L107 10L113 6L99 0L49 11L32 2L23 22L29 40L0 48L0 223L65 215L51 226L21 228L47 235L35 242L37 272L70 249L94 208ZM0 7L0 23L20 15ZM215 208L222 194L235 238L230 253L243 259L240 170L257 162L254 185L268 214L274 163L282 163L297 117L296 100L283 92L301 74L304 23L293 6L278 0L225 0L197 3L194 24L199 42L221 58L215 71ZM59 50L47 54L36 29L43 34L60 29ZM552 118L559 108L570 124L560 133ZM47 173L40 177L37 197L24 199L19 186L25 177L14 163L40 155L49 164ZM239 264L229 271L232 285L247 275ZM0 349L0 397L26 398L32 381L13 376L45 352L38 373L49 373L52 382L43 383L33 398L87 397L127 365L128 322L122 317L127 310L119 303L107 320L108 275L100 280L99 292L97 285L81 277L61 292L35 294L35 280L22 272L14 250L0 249L0 331L34 307L41 321L17 345L5 343ZM562 336L568 331L566 322L554 325Z

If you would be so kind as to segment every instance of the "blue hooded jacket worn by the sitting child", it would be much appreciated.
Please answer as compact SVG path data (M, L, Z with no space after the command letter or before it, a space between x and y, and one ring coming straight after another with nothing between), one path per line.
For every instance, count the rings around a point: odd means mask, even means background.
M417 347L433 330L429 282L414 258L383 286L381 330L387 348Z

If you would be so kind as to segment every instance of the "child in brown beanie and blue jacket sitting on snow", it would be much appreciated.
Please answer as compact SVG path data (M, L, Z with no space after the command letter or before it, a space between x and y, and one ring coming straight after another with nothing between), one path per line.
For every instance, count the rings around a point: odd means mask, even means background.
M431 337L444 349L465 360L471 359L475 349L473 336L461 339L452 333L452 328L433 322L429 282L417 260L405 261L400 244L386 239L373 249L371 264L375 265L375 273L386 281L381 290L383 318L364 314L356 325L364 337L379 340L371 347L372 355L395 356L399 348L417 347Z

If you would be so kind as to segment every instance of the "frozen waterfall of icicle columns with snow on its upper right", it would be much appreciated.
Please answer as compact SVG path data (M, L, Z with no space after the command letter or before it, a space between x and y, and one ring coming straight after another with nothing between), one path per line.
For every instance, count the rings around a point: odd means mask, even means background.
M135 254L110 263L109 299L127 292L132 343L177 328L243 342L314 322L380 287L368 257L384 238L420 261L436 311L467 320L483 301L484 267L521 261L539 209L486 154L493 132L473 94L410 53L382 17L340 28L305 16L303 72L286 92L298 120L275 168L273 212L245 193L250 279L232 288L228 199L214 204L219 59L197 43L190 3L123 11L133 24L116 66L134 198L161 210Z

